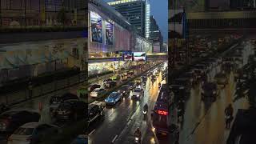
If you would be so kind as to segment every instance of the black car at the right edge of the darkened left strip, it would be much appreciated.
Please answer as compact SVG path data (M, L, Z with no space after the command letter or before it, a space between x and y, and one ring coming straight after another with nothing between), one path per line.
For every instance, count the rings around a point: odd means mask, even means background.
M57 121L77 121L78 119L86 118L87 114L86 102L80 100L68 100L62 102L56 110Z

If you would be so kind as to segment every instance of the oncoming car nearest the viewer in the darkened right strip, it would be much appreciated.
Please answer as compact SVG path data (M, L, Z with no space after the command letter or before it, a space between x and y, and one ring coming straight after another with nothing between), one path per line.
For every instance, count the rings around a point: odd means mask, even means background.
M215 82L206 82L202 86L202 100L210 99L210 101L216 101L219 94L218 85Z

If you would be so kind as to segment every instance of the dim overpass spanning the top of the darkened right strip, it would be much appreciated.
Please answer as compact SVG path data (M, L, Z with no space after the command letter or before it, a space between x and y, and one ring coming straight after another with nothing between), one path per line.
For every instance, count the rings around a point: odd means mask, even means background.
M256 30L256 11L187 13L187 24L194 30Z

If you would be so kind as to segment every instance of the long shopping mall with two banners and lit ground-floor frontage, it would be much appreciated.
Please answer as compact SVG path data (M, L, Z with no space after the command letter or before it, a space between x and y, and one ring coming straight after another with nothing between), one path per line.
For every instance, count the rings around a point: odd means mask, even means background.
M88 11L89 74L130 66L130 62L122 58L123 51L152 52L152 42L142 38L136 28L106 2L90 0Z

